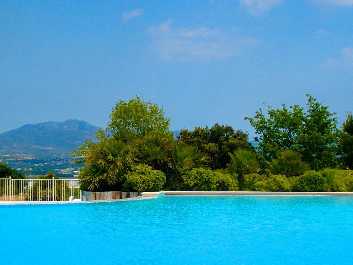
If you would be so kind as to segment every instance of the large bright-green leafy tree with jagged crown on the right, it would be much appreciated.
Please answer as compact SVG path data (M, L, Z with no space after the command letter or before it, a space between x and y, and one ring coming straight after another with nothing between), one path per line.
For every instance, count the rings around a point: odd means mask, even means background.
M273 110L267 107L268 118L261 108L253 118L245 117L259 141L259 149L267 160L276 158L281 151L293 149L303 156L303 161L315 169L335 165L338 139L336 113L330 113L327 106L316 102L307 94L307 111L299 105Z

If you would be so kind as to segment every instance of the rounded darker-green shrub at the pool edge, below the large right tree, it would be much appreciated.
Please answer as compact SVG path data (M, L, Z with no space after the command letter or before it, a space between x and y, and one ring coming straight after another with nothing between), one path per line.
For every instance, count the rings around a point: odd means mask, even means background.
M316 171L307 171L295 182L295 190L298 192L323 192L326 191L325 178Z

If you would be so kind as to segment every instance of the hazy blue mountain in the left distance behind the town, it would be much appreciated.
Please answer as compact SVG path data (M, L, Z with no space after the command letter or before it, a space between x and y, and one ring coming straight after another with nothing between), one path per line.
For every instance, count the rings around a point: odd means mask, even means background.
M0 134L0 154L50 156L65 154L88 137L95 138L98 127L83 120L26 124Z

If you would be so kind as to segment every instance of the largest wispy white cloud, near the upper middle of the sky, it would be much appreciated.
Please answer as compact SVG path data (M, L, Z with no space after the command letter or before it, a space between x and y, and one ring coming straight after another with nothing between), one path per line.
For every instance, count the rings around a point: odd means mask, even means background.
M258 39L238 36L235 30L219 28L175 28L173 20L147 31L153 37L152 47L161 58L170 60L216 59L240 54Z

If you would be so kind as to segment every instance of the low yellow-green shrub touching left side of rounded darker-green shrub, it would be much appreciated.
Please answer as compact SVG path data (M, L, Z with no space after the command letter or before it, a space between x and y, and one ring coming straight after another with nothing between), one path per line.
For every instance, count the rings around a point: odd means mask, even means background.
M270 175L254 184L258 192L288 192L291 191L289 178L283 175Z

